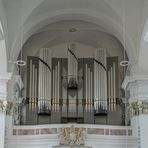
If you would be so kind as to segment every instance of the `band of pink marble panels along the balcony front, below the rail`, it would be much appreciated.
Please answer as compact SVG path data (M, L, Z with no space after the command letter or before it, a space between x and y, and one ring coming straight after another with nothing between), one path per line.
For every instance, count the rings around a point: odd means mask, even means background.
M19 126L18 126L19 127ZM22 128L20 126L19 128L14 128L13 129L13 135L52 135L52 134L58 134L60 135L63 134L69 134L70 130L72 131L71 127L53 127L53 128L48 128L48 127L37 127L37 128ZM29 132L29 130L31 132ZM32 131L33 130L33 131ZM131 128L109 128L109 127L87 127L87 128L80 128L80 127L74 127L73 129L74 133L77 135L80 135L80 133L85 133L86 135L114 135L114 136L132 136L132 129ZM67 135L68 136L68 135ZM65 137L65 136L64 136Z

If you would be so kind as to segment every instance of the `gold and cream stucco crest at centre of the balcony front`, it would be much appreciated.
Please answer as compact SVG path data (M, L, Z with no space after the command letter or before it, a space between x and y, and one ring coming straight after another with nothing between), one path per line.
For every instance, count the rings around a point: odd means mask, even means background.
M85 131L72 125L70 128L63 128L59 137L60 145L80 146L84 145Z

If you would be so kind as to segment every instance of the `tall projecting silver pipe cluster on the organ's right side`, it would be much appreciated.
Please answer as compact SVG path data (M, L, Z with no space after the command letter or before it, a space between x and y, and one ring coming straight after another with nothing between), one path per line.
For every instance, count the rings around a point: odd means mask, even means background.
M106 51L105 49L99 49L95 51L94 61L94 109L96 112L107 111L107 75L106 70ZM98 62L96 62L98 61ZM102 66L100 63L102 63Z

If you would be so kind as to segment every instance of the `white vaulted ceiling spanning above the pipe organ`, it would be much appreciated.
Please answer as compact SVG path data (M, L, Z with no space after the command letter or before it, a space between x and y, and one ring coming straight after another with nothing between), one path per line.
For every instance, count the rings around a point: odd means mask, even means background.
M130 60L138 59L142 32L148 14L146 0L0 1L3 1L7 18L5 37L8 59L15 60L22 44L33 34L41 36L51 34L54 39L50 38L43 43L48 45L79 40L99 46L100 36L106 33L115 36L123 44ZM87 25L75 23L75 26L68 26L66 23L65 27L55 24L60 21L82 21L87 22ZM75 35L67 31L70 27L78 30Z

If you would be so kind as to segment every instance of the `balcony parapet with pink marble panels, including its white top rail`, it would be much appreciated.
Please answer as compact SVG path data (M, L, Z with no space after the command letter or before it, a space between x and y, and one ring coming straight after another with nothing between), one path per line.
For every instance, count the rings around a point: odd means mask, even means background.
M62 134L64 129L69 130L71 128L71 124L69 125L36 125L34 126L14 126L12 135L13 136L23 136L23 135L52 135L52 134ZM123 127L123 126L96 126L96 125L75 125L75 132L77 130L81 130L85 132L86 136L91 135L112 135L112 136L133 136L131 127ZM30 131L33 130L33 132Z

